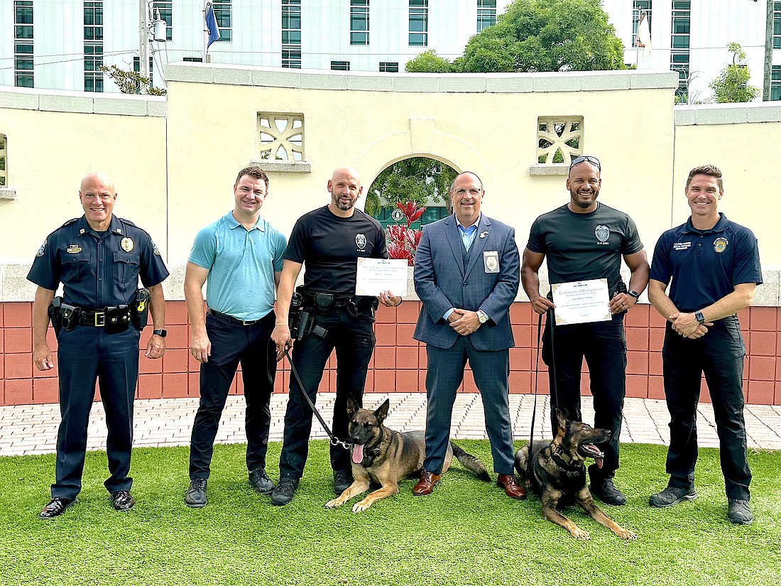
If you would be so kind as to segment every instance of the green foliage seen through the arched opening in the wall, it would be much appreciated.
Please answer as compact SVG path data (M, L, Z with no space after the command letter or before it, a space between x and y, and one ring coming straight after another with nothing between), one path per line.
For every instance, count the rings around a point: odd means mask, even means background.
M383 205L448 200L450 185L458 173L445 163L428 157L411 157L387 167L377 175L366 195L366 213L376 215Z

